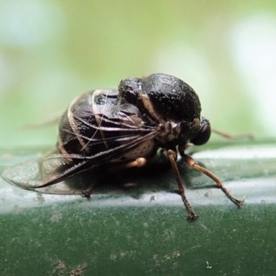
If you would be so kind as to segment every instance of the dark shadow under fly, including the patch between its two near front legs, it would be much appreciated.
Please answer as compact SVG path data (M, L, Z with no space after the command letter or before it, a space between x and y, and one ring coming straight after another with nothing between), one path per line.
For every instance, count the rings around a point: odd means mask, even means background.
M179 160L177 163L185 188L217 187L212 180L205 177L201 172L190 169L184 161ZM204 164L199 164L204 167ZM63 181L63 183L68 187L68 190L75 191L75 193L83 193L88 189L88 194L91 197L98 193L127 193L130 197L139 199L145 193L160 191L179 195L170 163L162 152L159 152L155 158L141 168L114 170L110 166L101 166L86 170Z

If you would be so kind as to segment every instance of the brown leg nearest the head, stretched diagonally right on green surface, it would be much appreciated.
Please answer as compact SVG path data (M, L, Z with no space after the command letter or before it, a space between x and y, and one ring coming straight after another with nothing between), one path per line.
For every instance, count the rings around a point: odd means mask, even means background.
M228 190L224 187L222 182L212 172L210 172L206 168L199 166L199 164L197 164L197 162L192 157L190 157L188 155L184 154L182 158L184 158L184 161L186 162L186 164L188 164L188 166L190 168L195 168L196 170L199 170L199 172L203 172L204 175L207 175L208 177L210 177L210 179L213 179L215 181L215 183L217 184L217 187L221 188L221 190L223 190L223 192L226 194L228 199L230 199L230 201L233 201L233 203L235 203L238 208L240 208L242 206L242 204L244 203L244 200L239 200L239 199L236 199L235 197L233 197L233 195L231 195L228 192Z

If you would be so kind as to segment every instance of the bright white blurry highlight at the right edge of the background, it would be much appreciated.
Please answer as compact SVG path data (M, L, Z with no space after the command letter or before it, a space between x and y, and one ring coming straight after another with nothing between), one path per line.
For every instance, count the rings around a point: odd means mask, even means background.
M230 39L235 66L255 101L253 119L266 135L276 135L276 17L267 13L239 21Z

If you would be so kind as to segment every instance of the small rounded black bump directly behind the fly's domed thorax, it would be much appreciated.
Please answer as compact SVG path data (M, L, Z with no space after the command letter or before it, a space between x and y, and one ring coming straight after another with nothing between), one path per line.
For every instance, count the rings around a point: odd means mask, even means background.
M119 97L126 101L136 105L137 97L141 92L141 79L128 78L124 79L119 84Z

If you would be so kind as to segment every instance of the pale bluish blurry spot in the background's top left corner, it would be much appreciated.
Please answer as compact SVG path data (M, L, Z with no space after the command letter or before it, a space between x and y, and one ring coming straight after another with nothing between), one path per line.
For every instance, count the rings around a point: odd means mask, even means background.
M63 25L60 10L39 0L6 0L0 4L0 45L38 46L57 37Z

